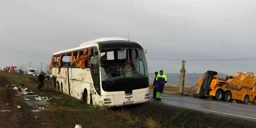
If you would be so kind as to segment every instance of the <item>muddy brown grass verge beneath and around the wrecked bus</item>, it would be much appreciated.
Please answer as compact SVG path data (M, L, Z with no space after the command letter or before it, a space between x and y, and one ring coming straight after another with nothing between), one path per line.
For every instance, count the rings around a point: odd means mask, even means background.
M2 74L2 75L1 75ZM24 82L26 88L40 96L47 96L49 105L30 106L24 97L16 96L11 84ZM34 78L0 73L0 127L256 127L256 123L206 114L157 102L125 106L123 108L93 109L68 95L47 86L36 90ZM8 87L6 85L8 84ZM33 99L33 98L29 98ZM7 104L9 103L9 104ZM21 108L18 109L17 105ZM45 110L38 109L45 106ZM120 111L121 110L121 111ZM33 112L37 111L37 112ZM38 116L39 119L34 119Z

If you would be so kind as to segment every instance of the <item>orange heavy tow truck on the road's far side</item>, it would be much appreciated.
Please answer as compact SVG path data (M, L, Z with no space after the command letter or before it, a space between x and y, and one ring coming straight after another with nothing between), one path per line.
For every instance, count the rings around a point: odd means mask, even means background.
M215 71L207 71L199 78L197 94L217 101L256 104L256 77L252 72L238 72L237 76L220 78Z

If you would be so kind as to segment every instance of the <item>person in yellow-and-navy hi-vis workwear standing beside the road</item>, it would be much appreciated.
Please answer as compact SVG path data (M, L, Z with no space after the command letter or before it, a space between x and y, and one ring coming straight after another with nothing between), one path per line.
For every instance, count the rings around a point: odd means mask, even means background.
M167 77L166 75L163 74L163 70L160 70L160 74L157 75L156 81L157 81L156 99L161 101L164 84L167 82Z

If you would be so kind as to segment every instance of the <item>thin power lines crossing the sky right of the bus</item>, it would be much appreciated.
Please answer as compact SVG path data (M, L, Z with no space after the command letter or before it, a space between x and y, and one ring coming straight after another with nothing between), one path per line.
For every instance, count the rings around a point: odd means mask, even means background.
M163 59L163 58L146 58L154 60L173 60L182 61L183 59ZM185 59L186 61L255 61L256 58L225 58L225 59Z

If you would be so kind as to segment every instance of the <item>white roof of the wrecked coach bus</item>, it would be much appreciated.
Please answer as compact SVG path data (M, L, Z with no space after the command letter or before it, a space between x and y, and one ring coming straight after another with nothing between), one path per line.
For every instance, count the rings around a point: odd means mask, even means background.
M93 40L90 40L90 41L87 41L87 42L83 42L79 47L76 47L76 48L55 52L55 53L53 53L53 55L58 55L58 54L61 54L61 53L68 53L68 52L72 52L72 51L77 51L79 49L84 49L84 48L87 48L88 45L93 46L93 44L96 43L96 42L117 41L117 40L128 41L128 39L121 38L121 37L102 37L102 38L93 39ZM89 46L89 47L91 47L91 46Z

